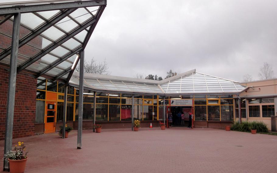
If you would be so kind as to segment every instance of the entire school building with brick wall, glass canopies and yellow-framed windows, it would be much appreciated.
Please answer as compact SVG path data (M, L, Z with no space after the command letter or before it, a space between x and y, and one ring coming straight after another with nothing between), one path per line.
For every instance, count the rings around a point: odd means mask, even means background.
M0 140L78 129L167 123L192 112L194 127L264 121L277 112L277 79L238 83L195 69L161 81L83 72L84 49L107 1L0 4ZM30 22L32 21L32 22ZM75 72L77 63L80 72ZM79 116L82 115L82 116ZM64 132L63 132L64 137ZM8 169L5 162L4 169Z

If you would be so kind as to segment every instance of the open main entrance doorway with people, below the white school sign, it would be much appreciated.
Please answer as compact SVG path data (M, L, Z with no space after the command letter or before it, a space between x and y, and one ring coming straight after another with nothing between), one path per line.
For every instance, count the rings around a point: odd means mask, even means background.
M181 114L184 114L184 119L178 117L179 112L181 112ZM188 127L190 112L193 112L192 106L171 106L172 126Z

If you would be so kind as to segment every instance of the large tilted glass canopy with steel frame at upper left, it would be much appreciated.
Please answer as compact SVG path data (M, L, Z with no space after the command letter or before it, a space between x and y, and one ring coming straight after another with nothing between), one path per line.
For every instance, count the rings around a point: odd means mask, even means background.
M0 3L0 64L9 66L13 15L20 12L17 72L68 81L106 5L104 0Z

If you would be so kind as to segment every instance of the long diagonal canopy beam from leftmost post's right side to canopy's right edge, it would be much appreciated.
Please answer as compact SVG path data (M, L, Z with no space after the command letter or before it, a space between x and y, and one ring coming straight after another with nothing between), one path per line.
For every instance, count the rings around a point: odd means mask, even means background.
M93 18L93 17L92 17ZM53 44L50 44L47 48L45 48L45 50L43 50L40 54L36 55L35 57L33 57L32 59L30 59L29 61L26 61L25 63L23 63L22 65L20 65L17 68L17 71L20 72L23 69L25 69L26 67L30 66L31 64L33 64L34 62L36 62L37 60L39 60L40 58L42 58L44 55L46 55L47 53L49 53L50 51L54 50L55 48L57 48L59 45L63 44L64 42L68 41L70 38L74 37L76 34L80 33L82 30L86 29L88 26L92 25L95 22L95 19L90 19L88 20L86 23L84 23L82 26L80 26L79 28L76 28L75 30L72 30L70 33L66 34L64 37L61 37L58 41L56 41Z

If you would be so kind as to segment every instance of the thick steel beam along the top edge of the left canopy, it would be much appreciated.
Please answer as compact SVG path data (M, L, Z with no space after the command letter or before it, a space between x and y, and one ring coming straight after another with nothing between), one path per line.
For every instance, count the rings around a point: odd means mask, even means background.
M14 13L27 13L27 12L40 12L40 11L49 11L49 10L60 10L60 9L72 9L72 8L82 8L82 7L93 7L100 5L107 5L107 0L88 0L88 1L74 1L67 0L67 2L57 1L46 2L44 4L39 4L40 2L33 2L33 4L21 3L17 6L10 4L7 7L0 7L0 15L3 14L14 14ZM27 4L27 5L26 5ZM3 5L2 5L3 6Z

